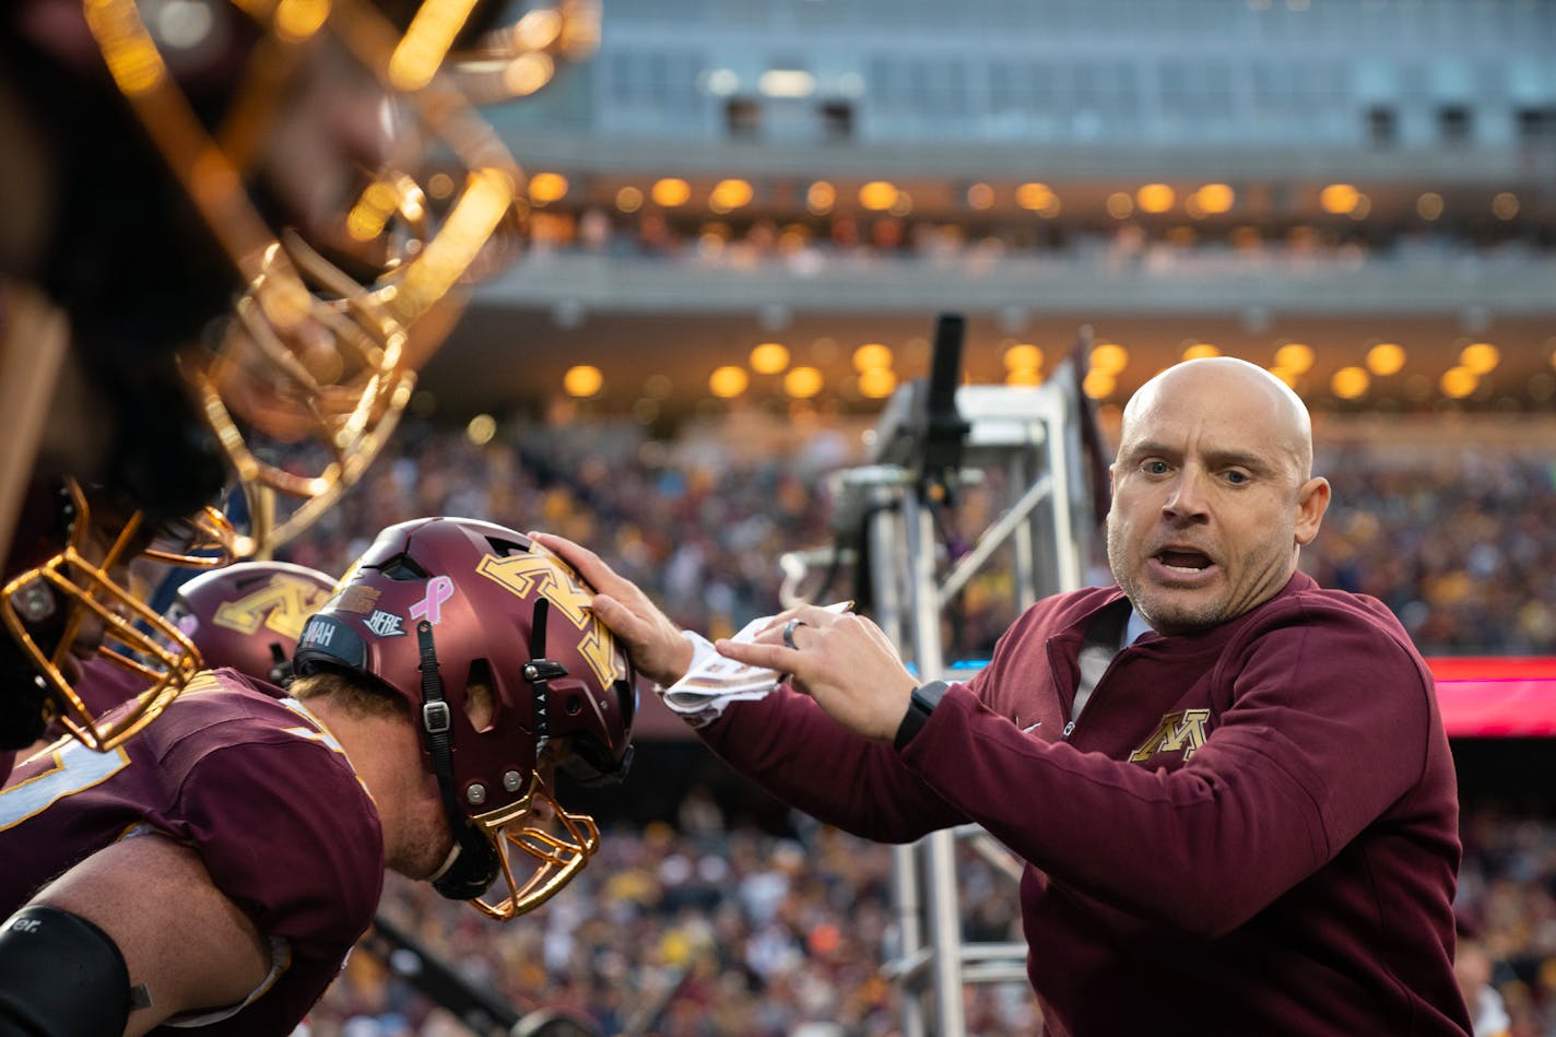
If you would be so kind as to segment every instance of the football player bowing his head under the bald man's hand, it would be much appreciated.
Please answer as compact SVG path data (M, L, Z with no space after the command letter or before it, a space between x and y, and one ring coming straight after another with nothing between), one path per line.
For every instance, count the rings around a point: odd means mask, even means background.
M288 693L205 671L123 746L20 765L0 1034L288 1034L384 869L496 919L545 903L599 845L555 768L604 783L632 757L635 673L590 598L512 529L391 526L308 620Z

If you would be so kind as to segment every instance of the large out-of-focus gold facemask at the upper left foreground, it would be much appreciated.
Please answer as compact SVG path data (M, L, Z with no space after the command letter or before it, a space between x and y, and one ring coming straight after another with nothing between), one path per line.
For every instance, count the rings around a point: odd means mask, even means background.
M361 478L409 402L415 371L456 322L461 288L515 251L523 173L442 72L475 0L425 0L405 33L367 0L232 0L261 37L210 129L137 2L84 3L115 84L247 285L235 319L187 349L180 369L244 487L251 528L235 547L268 554ZM370 276L274 230L246 187L288 76L331 47L412 117L414 132L400 137L414 146L392 167L437 151L462 170L440 174L450 201L439 206L409 168L377 173L342 213L336 243ZM288 469L265 448L300 442L321 450L291 450ZM316 458L311 470L296 470L299 455Z

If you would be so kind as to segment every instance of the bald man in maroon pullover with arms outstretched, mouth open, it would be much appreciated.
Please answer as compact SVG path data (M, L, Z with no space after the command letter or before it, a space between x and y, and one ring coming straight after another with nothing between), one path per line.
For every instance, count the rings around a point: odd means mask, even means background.
M1116 587L1039 601L969 684L923 687L867 618L803 606L716 645L794 677L697 733L848 831L976 822L1024 858L1050 1035L1469 1034L1432 674L1382 603L1296 570L1329 504L1312 459L1263 369L1170 367L1123 414ZM541 542L643 673L685 673L689 640L636 587Z

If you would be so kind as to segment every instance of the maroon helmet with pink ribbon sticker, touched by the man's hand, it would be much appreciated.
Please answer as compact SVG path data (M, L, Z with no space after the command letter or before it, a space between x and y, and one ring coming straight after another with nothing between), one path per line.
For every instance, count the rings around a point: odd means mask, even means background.
M635 674L591 596L520 533L417 518L378 534L297 643L299 676L345 670L411 704L459 841L434 886L498 919L538 908L599 849L593 817L555 802L551 765L596 785L632 758ZM499 874L507 895L481 900Z

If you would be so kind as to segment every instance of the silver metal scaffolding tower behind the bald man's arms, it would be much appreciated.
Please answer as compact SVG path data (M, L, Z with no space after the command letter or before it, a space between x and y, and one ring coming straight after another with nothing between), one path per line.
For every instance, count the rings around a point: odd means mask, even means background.
M1077 360L1086 355L1085 344L1083 335ZM842 556L854 565L856 595L921 680L971 679L977 660L944 659L943 618L958 592L996 557L1011 567L1015 610L1081 585L1095 528L1097 458L1081 441L1089 416L1072 363L1061 364L1039 388L955 388L960 424L938 424L960 439L957 444L924 444L937 434L937 420L924 420L924 386L902 386L876 433L878 456L888 462L834 476L843 518L834 523L839 543L825 561L836 565ZM980 473L1008 500L990 511L994 518L971 550L951 557L938 542L935 512L960 486L980 481ZM850 528L851 539L845 536ZM808 553L790 557L789 568L798 576L820 561ZM965 984L1025 983L1025 944L962 939L962 845L1019 880L1021 863L977 825L935 831L895 849L898 940L884 972L899 990L907 1037L963 1037Z

